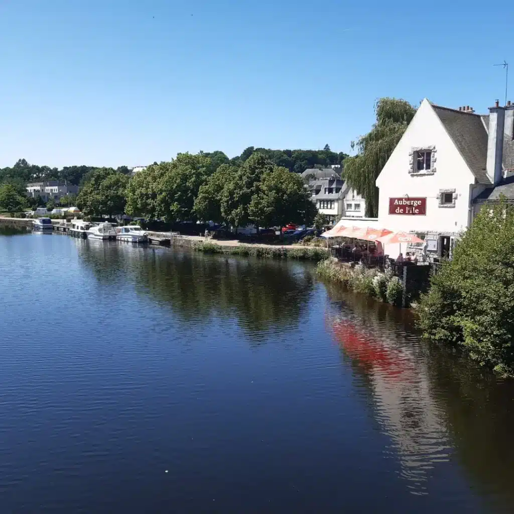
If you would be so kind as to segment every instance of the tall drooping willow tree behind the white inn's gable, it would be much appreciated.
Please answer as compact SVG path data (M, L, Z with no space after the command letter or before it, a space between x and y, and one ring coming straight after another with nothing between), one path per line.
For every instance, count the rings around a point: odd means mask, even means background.
M366 200L366 216L378 216L375 180L414 117L416 108L405 100L380 98L375 103L376 122L371 131L352 141L357 155L344 160L344 177Z

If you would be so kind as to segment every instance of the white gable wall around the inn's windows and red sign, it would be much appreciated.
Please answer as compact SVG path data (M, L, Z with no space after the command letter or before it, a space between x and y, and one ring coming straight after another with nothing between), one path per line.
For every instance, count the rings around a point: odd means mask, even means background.
M436 149L435 174L410 175L411 147L432 145ZM470 185L474 180L432 106L428 100L424 100L377 178L379 224L390 230L460 232L468 226ZM439 190L452 188L457 193L455 207L439 207ZM406 194L410 197L427 198L425 216L389 214L389 198Z

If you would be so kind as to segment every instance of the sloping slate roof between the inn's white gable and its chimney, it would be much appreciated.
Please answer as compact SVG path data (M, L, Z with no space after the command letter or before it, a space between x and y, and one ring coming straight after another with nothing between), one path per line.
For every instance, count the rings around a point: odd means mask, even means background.
M439 105L432 107L476 180L490 184L486 173L487 131L481 116Z

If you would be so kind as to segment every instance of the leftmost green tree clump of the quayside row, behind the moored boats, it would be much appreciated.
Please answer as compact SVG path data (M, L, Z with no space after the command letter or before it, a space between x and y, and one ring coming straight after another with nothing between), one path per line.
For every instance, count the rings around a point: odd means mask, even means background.
M77 207L86 216L122 214L129 178L112 168L97 168L77 197Z

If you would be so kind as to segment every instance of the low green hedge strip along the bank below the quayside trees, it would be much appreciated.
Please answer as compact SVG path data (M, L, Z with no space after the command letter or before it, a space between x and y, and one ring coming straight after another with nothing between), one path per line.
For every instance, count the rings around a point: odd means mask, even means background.
M225 255L243 255L245 257L299 259L308 261L321 261L322 259L326 259L328 255L326 248L300 248L294 246L222 246L210 242L193 242L191 248L194 251L205 253L223 253Z

